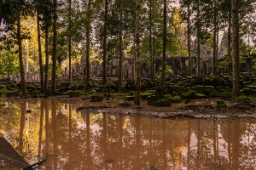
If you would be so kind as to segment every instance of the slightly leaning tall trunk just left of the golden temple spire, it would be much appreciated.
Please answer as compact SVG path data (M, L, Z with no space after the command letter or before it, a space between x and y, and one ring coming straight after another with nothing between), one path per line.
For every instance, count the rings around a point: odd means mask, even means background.
M163 32L163 60L162 60L162 71L161 71L161 79L160 86L164 85L166 79L166 0L164 0L164 32Z

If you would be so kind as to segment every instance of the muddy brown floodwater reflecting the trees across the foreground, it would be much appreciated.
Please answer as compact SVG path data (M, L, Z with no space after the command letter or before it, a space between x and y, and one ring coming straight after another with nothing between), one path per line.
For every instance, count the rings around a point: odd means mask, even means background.
M82 100L9 99L4 104L0 136L30 164L47 157L37 169L256 167L256 119L252 117L172 120L95 114L76 109L102 104ZM0 159L0 169L20 167Z

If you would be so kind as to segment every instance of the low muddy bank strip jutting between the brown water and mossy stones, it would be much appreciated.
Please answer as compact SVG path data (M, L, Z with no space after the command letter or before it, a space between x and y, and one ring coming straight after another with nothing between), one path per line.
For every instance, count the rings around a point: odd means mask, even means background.
M229 102L226 108L217 108L218 99L211 100L191 100L188 104L177 103L170 107L155 107L145 105L142 102L141 106L119 106L116 103L122 104L121 101L112 101L113 106L93 105L79 107L77 111L87 111L91 113L108 113L122 114L128 116L155 116L160 118L211 118L211 117L226 117L226 116L256 116L256 109L253 104L249 103L232 103ZM111 104L112 102L108 102ZM103 103L102 103L103 104Z

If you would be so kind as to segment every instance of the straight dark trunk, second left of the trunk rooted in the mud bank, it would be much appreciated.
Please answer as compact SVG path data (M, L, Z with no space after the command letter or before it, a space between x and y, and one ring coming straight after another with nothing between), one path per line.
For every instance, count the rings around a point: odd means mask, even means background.
M107 38L108 38L108 0L105 0L104 16L104 39L103 39L103 85L107 84Z

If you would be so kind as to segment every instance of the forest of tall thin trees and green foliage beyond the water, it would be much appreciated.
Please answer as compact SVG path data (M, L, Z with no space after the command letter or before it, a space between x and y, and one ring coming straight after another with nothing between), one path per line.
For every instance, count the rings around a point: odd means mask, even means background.
M194 98L256 94L254 7L254 0L1 0L0 94L130 92L126 97L135 105L148 98L150 90L171 93L171 100L189 98L185 94ZM224 59L218 62L224 37ZM201 75L205 47L211 55L210 76ZM129 79L123 69L124 59L131 56ZM242 76L245 56L252 69ZM166 64L168 57L188 59L186 77L175 77ZM161 60L157 75L155 59ZM113 60L118 61L117 79L108 77ZM94 61L102 65L102 77L91 76ZM149 68L147 79L142 78L143 64ZM83 65L83 77L73 77L76 65ZM220 74L223 68L229 70L227 75ZM37 73L38 81L29 82L27 75ZM168 96L156 96L169 102Z

